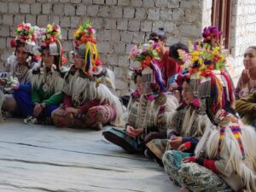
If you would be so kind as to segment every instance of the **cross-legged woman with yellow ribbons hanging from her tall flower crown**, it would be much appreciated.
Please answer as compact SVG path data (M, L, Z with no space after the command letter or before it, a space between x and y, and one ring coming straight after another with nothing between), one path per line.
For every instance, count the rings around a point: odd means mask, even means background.
M95 28L86 20L74 32L74 65L62 89L64 101L52 116L55 125L101 130L102 125L122 125L123 108L113 94L113 72L102 68L96 49Z

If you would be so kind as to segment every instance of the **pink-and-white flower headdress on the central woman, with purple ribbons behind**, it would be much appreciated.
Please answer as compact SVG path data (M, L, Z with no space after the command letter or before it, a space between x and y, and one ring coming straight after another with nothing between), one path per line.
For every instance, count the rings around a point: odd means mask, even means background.
M149 84L151 90L156 92L156 88L165 92L166 87L164 80L162 79L160 67L159 67L159 52L160 47L154 41L148 41L148 44L135 45L130 50L130 59L133 61L139 61L142 68L143 82ZM152 84L152 83L157 83Z

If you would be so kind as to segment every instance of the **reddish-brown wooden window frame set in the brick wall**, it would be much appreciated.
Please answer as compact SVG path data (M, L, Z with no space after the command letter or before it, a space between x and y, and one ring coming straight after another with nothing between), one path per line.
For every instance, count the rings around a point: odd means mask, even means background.
M224 49L230 52L232 0L212 0L212 26L218 26L223 32L221 42Z

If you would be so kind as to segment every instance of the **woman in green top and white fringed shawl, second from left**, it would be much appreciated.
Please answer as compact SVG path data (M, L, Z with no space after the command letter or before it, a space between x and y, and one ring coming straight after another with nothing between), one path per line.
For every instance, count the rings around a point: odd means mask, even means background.
M16 101L20 112L27 115L25 123L50 124L51 112L63 99L61 28L49 24L41 29L40 35L42 45L34 52L42 57L42 61L32 69L32 94L20 92Z

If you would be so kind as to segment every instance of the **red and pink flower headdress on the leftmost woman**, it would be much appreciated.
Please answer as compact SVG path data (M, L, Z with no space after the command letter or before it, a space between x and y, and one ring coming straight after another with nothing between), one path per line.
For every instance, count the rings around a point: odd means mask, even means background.
M15 48L19 43L25 44L26 51L32 53L32 49L36 46L37 34L34 26L30 23L20 23L15 30L16 37L11 39L10 46Z

